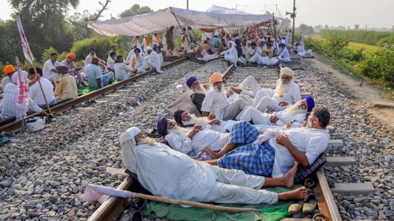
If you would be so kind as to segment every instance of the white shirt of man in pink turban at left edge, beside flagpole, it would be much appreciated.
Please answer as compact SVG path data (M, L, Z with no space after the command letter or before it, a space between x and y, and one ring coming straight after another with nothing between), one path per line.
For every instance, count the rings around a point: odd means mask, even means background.
M2 113L0 114L1 119L6 119L9 117L16 117L16 120L21 119L24 115L21 111L21 108L16 106L16 101L18 100L18 87L16 84L7 84L4 90L4 98L2 105ZM35 113L40 113L43 111L41 107L37 106L35 102L29 98L28 109L33 109Z

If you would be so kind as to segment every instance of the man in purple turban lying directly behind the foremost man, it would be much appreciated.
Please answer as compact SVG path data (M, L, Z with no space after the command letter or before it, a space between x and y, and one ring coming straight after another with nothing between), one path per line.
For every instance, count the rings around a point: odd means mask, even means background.
M218 120L214 119L209 123L217 122ZM221 150L228 140L229 134L221 134L209 128L201 129L201 125L194 125L191 129L179 127L165 117L157 121L157 131L167 140L169 146L193 158L198 156L199 152L205 152L206 145L214 151Z

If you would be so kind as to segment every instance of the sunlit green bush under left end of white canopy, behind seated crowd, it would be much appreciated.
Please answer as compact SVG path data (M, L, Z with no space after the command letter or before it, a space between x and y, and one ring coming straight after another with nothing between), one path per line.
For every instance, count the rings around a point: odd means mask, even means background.
M97 57L107 60L112 45L112 39L109 37L92 37L75 41L70 53L75 54L76 60L84 60L89 54L90 48L93 47L96 49Z

